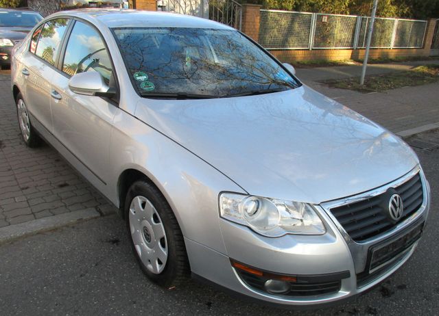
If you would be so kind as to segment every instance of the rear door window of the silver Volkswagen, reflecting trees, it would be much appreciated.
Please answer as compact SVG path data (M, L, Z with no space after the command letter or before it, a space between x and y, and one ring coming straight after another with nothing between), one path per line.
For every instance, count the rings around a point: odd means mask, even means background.
M60 49L60 42L64 32L67 29L69 19L57 18L45 23L41 30L40 39L36 45L36 53L38 57L43 58L51 65L55 64L56 53Z

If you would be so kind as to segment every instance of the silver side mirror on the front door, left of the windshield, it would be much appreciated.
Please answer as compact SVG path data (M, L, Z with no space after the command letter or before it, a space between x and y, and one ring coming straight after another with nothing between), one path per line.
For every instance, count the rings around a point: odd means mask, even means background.
M104 78L95 72L78 73L71 77L69 88L77 94L85 96L110 96L110 88L106 85Z

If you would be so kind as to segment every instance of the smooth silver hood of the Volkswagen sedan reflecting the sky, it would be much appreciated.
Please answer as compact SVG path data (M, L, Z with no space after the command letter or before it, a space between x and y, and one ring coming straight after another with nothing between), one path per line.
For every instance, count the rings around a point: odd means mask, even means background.
M257 196L320 203L389 183L418 163L399 137L306 86L237 98L143 98L135 116Z

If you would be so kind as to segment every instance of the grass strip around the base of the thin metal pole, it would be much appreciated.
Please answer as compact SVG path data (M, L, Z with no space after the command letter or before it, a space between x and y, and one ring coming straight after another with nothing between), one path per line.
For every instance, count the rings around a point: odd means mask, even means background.
M424 85L439 81L439 65L417 66L407 71L374 75L366 77L364 85L359 85L359 78L323 81L331 88L349 89L359 92L382 92L396 88Z

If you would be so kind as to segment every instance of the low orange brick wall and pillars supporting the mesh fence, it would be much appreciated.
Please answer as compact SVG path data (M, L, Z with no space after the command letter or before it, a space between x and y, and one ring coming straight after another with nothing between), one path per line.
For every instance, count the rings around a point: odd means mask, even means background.
M258 40L260 5L243 5L242 8L242 31ZM430 18L427 23L427 31L423 49L370 49L369 58L393 58L393 57L427 57L431 51L431 41L434 36L436 19ZM364 58L365 49L278 49L270 50L281 62L306 62L313 60L361 60Z

